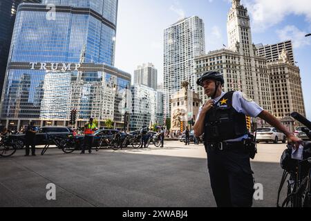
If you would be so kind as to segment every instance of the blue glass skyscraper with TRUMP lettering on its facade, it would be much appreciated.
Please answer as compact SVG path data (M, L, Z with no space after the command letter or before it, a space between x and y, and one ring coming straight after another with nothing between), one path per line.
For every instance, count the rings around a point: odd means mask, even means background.
M131 75L114 68L117 0L43 0L17 10L1 99L1 124L122 123ZM108 100L109 99L109 100ZM116 108L109 109L111 106ZM117 116L117 117L116 117Z

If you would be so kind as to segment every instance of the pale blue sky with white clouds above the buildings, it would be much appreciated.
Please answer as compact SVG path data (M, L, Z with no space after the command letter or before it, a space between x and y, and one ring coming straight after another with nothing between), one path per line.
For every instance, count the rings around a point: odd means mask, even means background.
M311 119L311 2L310 0L241 0L251 17L254 44L292 40L294 59L301 69L303 97ZM151 62L163 82L164 29L184 17L205 23L206 52L227 45L230 0L119 0L115 67L133 72Z

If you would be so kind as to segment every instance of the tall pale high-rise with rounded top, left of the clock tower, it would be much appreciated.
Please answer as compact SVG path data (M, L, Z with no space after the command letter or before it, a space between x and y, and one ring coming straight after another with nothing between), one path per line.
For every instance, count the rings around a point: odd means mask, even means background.
M171 95L183 81L196 88L194 57L204 54L205 27L199 17L182 19L164 30L164 117L171 116Z

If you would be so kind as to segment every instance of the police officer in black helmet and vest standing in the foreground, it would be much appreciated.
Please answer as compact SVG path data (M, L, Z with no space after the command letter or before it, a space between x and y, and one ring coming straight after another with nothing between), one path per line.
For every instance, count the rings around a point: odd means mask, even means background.
M194 133L204 133L211 189L218 207L250 207L254 194L254 178L246 148L249 135L246 115L260 117L282 131L296 148L302 141L288 131L276 117L258 106L244 93L224 93L223 75L207 72L198 79L211 99L200 108Z

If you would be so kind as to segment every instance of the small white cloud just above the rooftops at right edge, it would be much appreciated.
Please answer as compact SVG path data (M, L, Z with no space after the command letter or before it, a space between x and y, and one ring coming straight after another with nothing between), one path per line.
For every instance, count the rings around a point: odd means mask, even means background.
M296 28L296 26L285 26L281 30L276 30L281 41L292 40L294 48L301 48L303 46L311 46L310 37L305 37L305 32Z

